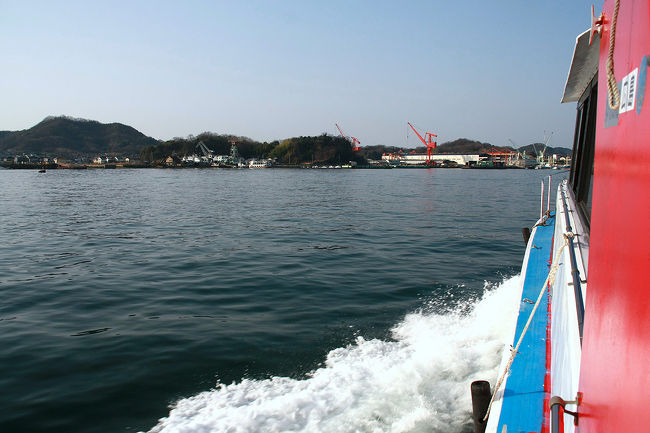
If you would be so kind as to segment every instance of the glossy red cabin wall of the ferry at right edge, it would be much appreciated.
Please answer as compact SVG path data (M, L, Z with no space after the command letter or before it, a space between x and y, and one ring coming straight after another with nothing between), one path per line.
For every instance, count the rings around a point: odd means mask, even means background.
M634 91L632 106L628 93L628 104L607 123L615 3L605 0L603 6L607 21L599 53L580 433L650 430L650 2L620 0L614 78L621 89L635 71L639 79L628 89Z

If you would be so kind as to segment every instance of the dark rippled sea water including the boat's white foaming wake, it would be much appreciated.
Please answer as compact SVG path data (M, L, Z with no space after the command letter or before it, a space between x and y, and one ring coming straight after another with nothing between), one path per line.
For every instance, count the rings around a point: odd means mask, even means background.
M466 430L548 174L0 170L0 431Z

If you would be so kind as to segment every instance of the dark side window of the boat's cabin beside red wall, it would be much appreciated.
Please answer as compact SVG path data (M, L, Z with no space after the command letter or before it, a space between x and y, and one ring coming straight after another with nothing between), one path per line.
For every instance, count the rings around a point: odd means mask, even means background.
M594 78L578 102L576 129L573 138L573 164L571 187L575 194L581 217L589 227L591 196L594 176L594 148L596 140L596 105L598 82Z

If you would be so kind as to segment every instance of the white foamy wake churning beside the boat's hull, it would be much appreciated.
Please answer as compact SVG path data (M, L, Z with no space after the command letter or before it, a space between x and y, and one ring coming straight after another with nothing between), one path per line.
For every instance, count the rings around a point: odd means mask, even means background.
M470 383L494 383L519 277L470 308L408 314L394 341L357 338L303 380L244 379L182 399L151 432L460 432Z

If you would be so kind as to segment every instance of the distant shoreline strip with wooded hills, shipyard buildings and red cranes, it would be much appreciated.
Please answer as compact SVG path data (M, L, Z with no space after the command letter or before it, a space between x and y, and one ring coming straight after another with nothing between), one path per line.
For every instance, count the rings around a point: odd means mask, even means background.
M418 147L383 145L361 146L356 137L343 133L322 134L312 137L295 137L259 143L245 137L203 133L198 136L177 138L168 142L147 139L150 144L143 148L129 146L132 150L96 154L89 150L93 142L105 141L101 132L112 125L102 125L85 119L65 116L50 117L32 128L30 141L38 138L39 130L47 128L84 128L93 124L100 132L92 138L68 138L69 150L0 155L0 167L12 169L94 169L94 168L474 168L474 169L559 169L568 168L571 155L568 148L550 147L552 134L541 142L517 146L509 140L509 146L493 146L475 140L457 139L438 143L436 134L427 132L422 137L411 123L408 126L420 140ZM129 131L130 132L130 131ZM132 133L131 133L132 134ZM21 147L25 135L22 131L7 134L4 140L14 149ZM35 137L36 136L36 137ZM143 141L142 134L135 136ZM132 140L135 141L135 138ZM3 138L0 137L0 145ZM46 146L47 137L43 137ZM407 146L408 137L407 137ZM417 143L416 143L417 144ZM34 145L31 145L32 148Z

